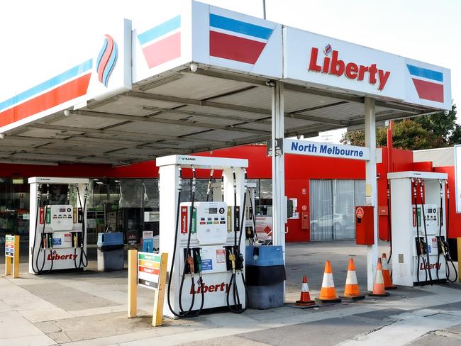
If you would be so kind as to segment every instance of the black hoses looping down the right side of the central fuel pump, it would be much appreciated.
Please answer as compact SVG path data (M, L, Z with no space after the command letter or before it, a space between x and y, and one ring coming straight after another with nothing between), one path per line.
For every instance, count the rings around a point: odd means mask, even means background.
M231 257L231 262L232 262L232 274L230 276L230 281L229 281L229 288L228 292L226 295L226 302L228 305L228 308L230 311L233 313L243 313L247 307L248 307L248 289L247 289L247 284L245 281L245 275L243 274L242 269L240 269L240 274L242 276L242 281L243 281L243 287L245 289L245 308L239 308L241 306L240 303L240 295L238 294L238 287L237 287L237 281L236 281L236 270L235 270L235 261L239 260L240 266L243 267L243 255L240 253L240 244L242 242L242 233L243 233L243 226L245 225L245 206L246 206L246 191L247 191L247 173L246 170L244 169L245 172L245 188L243 191L243 208L242 208L242 213L241 213L241 218L240 218L240 235L238 237L238 245L237 245L237 230L234 229L234 244L235 244L235 252L230 255ZM236 184L236 179L235 179L235 169L232 167L232 174L233 174L233 184L234 184L234 205L237 206L237 184ZM229 301L229 296L230 296L230 289L233 289L233 298L234 298L234 304L231 305Z

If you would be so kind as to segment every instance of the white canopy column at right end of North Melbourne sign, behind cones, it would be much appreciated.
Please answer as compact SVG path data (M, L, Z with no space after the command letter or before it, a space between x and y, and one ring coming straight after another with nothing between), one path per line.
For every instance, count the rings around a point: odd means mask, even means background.
M365 97L365 147L370 148L370 160L365 164L366 204L374 207L373 234L374 245L367 245L367 289L372 291L374 272L378 260L378 208L376 172L376 114L374 99Z

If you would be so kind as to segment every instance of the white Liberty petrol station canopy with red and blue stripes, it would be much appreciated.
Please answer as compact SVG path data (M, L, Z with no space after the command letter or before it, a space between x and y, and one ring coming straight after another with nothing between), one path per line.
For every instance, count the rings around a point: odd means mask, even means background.
M0 162L128 164L451 108L450 70L190 1L107 28L88 60L1 95ZM46 54L46 53L45 53Z

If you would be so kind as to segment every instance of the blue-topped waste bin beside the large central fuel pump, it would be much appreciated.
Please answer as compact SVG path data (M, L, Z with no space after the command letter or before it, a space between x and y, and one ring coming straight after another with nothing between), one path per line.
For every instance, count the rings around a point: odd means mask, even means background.
M245 249L248 306L267 309L283 306L287 279L282 246L249 245Z

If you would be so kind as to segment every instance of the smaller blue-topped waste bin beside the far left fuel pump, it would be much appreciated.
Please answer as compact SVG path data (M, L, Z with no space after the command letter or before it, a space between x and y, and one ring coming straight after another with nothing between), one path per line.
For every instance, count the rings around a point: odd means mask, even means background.
M98 270L122 270L125 266L125 246L123 233L98 234Z

